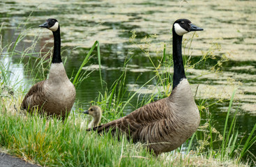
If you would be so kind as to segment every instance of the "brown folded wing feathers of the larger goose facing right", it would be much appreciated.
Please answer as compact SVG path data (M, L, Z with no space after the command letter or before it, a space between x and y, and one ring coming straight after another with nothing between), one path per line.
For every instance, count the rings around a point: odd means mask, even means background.
M162 123L160 122L164 122L163 124L166 125L165 113L163 113L165 109L164 100L165 99L142 106L128 116L113 120L105 125L93 128L92 130L101 133L107 132L110 129L112 129L112 132L116 132L116 129L120 129L121 132L132 134L133 139L137 141L137 138L142 138L142 136L146 136L147 133L151 132L156 124L159 124L158 126L161 127ZM140 136L138 136L139 134Z

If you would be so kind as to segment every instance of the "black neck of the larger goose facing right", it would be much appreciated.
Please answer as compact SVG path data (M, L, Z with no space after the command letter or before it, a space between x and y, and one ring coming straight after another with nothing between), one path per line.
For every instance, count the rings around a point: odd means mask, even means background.
M174 62L174 75L172 82L172 90L176 88L181 79L186 78L183 60L182 60L182 37L181 35L177 35L174 31L174 27L172 29L172 58Z

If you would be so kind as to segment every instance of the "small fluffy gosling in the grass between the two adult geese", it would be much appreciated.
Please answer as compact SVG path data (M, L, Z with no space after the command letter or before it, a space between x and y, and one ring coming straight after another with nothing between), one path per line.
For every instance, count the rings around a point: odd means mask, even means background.
M99 106L91 106L88 110L84 111L84 113L87 113L93 117L93 120L91 120L89 123L88 128L97 127L99 125L102 114Z

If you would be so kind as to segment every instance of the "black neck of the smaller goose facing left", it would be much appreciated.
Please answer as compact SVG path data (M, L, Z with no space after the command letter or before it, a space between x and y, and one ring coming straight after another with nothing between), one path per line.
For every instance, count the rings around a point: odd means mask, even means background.
M61 33L60 28L57 31L52 31L54 37L54 48L52 63L61 63Z

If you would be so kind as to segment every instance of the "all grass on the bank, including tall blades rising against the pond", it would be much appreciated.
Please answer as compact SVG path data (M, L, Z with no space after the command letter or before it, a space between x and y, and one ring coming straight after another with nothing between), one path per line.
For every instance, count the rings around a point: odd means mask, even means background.
M19 63L24 64L24 74L36 76L33 81L30 81L33 84L46 78L47 69L50 66L50 60L47 60L47 56L51 53L34 52L38 36L34 39L31 47L24 49L24 51L17 51L15 47L24 38L24 35L26 34L20 34L17 40L10 45L1 46L1 58L19 56ZM133 32L130 42L137 45L142 54L151 60L152 38L156 38L156 36L144 38L142 42L145 45L139 45L137 44L136 33ZM189 45L192 40L193 37L184 43L187 45L184 52L188 53L188 56L184 56L186 70L197 65L203 66L206 61L215 56L213 54L214 49L218 49L218 45L213 45L209 51L203 53L198 62L191 64ZM89 77L88 72L83 71L82 67L88 63L93 49L96 48L98 49L98 63L100 64L100 48L96 42L86 54L80 69L70 77L76 87L80 86L86 77ZM124 83L126 81L126 67L132 56L127 57L123 63L123 73L116 78L110 89L103 87L104 91L100 92L98 98L92 102L100 105L105 111L103 123L122 116L126 106L130 105L130 101L134 98L137 98L135 105L138 108L153 100L170 95L172 74L166 71L172 68L172 58L165 53L165 45L160 50L160 52L153 52L156 54L155 56L160 55L160 61L151 61L156 72L151 80L156 81L157 93L143 95L142 100L138 98L138 91L128 93ZM24 61L24 59L26 60ZM63 60L65 63L68 57L63 58ZM219 72L223 61L227 61L225 56L219 58L218 63L202 75ZM73 113L64 123L54 118L47 120L45 117L31 116L20 111L22 97L26 93L24 85L27 83L11 79L13 74L10 72L12 70L10 68L10 62L1 62L0 145L2 151L15 154L17 157L23 157L42 166L248 166L253 164L252 160L255 157L248 152L248 149L256 141L256 137L253 136L256 125L252 132L248 133L250 135L238 136L235 126L236 112L230 113L235 91L229 100L226 122L223 122L223 124L225 123L223 133L215 129L212 122L209 106L214 104L199 99L197 106L201 114L206 113L206 118L201 122L197 132L181 148L154 157L142 147L142 143L133 144L127 141L125 137L117 140L109 134L99 136L93 132L86 132L87 121L81 115L78 103L75 104ZM144 86L151 80L147 81ZM102 79L101 81L104 82ZM123 97L127 93L128 97ZM219 101L223 101L223 99ZM227 123L229 119L232 120L231 124ZM248 163L248 161L250 162Z

